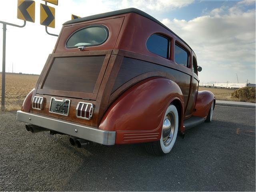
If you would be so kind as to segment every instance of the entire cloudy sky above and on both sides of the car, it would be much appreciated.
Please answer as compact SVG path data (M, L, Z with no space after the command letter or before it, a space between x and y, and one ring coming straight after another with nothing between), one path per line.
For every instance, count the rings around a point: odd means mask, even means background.
M35 1L35 23L27 22L22 29L8 27L7 72L12 70L13 63L14 72L40 74L56 43L57 38L46 35L44 26L39 24L39 4L43 1ZM16 18L17 0L5 0L2 5L0 20L22 24ZM62 24L71 19L71 14L83 17L138 8L188 42L196 52L198 65L203 68L199 74L200 82L237 82L237 73L239 82L249 79L255 83L255 1L59 0L58 6L50 6L56 9L56 28L49 29L54 34L60 32ZM0 42L2 44L2 30ZM38 49L33 48L35 45L39 45ZM29 57L24 57L26 54Z

